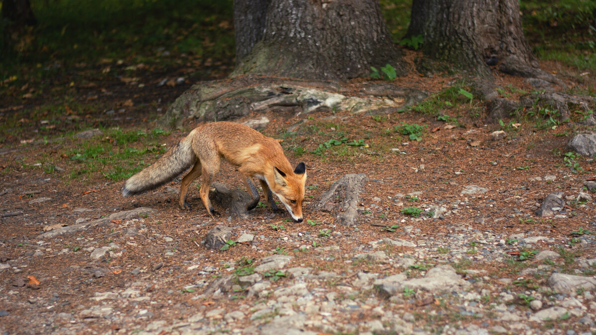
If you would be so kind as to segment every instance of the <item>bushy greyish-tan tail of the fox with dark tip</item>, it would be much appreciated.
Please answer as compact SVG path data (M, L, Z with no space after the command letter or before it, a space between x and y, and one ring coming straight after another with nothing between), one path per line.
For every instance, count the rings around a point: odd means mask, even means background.
M153 165L141 170L126 181L122 188L122 196L142 193L160 187L176 178L179 174L194 165L196 156L193 151L193 137L188 134L175 147L170 148Z

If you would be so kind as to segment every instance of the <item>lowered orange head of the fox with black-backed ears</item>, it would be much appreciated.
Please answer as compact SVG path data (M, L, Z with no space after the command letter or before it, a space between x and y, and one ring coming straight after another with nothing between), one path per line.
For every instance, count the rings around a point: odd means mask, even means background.
M280 198L292 219L302 222L302 200L304 200L304 184L306 182L304 163L299 163L296 169L290 173L284 173L274 166L273 175L274 183L270 184L269 188Z

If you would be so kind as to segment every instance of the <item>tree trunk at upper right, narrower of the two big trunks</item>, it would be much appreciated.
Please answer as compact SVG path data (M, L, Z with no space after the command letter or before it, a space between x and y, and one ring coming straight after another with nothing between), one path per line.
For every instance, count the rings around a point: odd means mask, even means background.
M423 35L423 53L460 70L491 75L541 73L523 35L518 0L419 0L406 38ZM517 73L516 73L517 72Z

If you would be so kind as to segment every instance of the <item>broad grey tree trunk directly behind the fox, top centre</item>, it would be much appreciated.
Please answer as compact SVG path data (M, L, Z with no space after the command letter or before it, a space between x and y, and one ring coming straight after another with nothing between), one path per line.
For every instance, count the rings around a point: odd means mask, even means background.
M342 80L389 63L405 73L378 0L236 0L239 61L232 76ZM260 11L248 14L247 11ZM243 12L243 13L238 13ZM265 17L258 42L260 17ZM250 54L247 54L250 51Z

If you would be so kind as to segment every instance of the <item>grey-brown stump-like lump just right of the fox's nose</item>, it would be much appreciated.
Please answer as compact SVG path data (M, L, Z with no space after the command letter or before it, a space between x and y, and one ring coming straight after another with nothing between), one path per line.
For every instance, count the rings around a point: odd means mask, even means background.
M337 223L340 225L356 224L358 222L359 195L365 191L364 186L367 181L367 176L362 173L344 175L322 194L318 202L312 203L309 208L324 212L337 212ZM337 199L339 199L339 204Z

